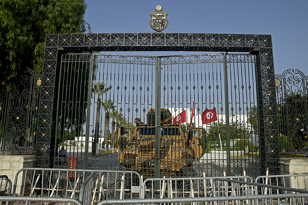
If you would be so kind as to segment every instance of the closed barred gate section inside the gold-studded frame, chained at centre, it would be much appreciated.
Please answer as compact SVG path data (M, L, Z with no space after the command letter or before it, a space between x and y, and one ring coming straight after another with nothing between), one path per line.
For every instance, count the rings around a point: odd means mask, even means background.
M70 166L58 154L64 146L77 168L161 177L203 176L203 170L222 176L224 168L241 175L246 167L259 175L257 130L248 121L257 105L255 58L63 54L54 167ZM218 120L204 124L202 113L210 109ZM162 125L157 116L168 112L185 113L184 124Z

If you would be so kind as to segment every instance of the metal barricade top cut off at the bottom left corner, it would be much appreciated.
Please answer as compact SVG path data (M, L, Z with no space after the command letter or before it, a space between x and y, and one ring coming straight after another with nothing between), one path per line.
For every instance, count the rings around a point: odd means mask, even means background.
M62 204L74 204L74 205L83 205L80 201L76 199L67 199L67 198L55 198L55 197L30 197L30 196L0 196L0 202L15 202L23 204L35 203L42 205L44 204L54 204L54 203L62 203ZM6 203L8 205L8 203Z

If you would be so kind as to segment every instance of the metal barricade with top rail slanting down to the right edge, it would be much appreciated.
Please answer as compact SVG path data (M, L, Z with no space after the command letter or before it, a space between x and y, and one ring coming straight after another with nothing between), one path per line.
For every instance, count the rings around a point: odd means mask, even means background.
M219 185L219 181L223 182L221 183L221 186ZM218 182L218 183L217 183ZM282 186L276 186L276 185L269 185L269 184L261 184L261 183L255 183L255 182L243 182L238 180L232 180L232 179L222 179L222 178L215 178L213 180L213 187L217 187L217 190L215 190L215 198L220 196L228 196L228 184L234 184L235 186L231 186L231 195L232 196L255 196L260 194L260 190L264 189L271 189L276 190L276 194L265 194L261 191L261 195L265 196L264 199L261 201L256 201L255 203L262 203L262 204L270 204L270 205L291 205L291 204L297 204L297 205L304 205L307 204L307 196L308 191L302 190L302 189L296 189L296 188L290 188L290 187L282 187ZM248 191L249 190L249 191ZM289 193L286 193L289 192ZM299 195L297 195L299 194ZM303 195L300 195L303 194ZM277 195L276 198L269 198L271 195ZM305 196L306 195L306 196ZM232 202L233 203L233 202ZM238 200L235 201L235 203L238 204L250 204L253 203L253 201L250 201L250 199L247 200ZM228 205L228 200L225 200L222 202L222 205Z

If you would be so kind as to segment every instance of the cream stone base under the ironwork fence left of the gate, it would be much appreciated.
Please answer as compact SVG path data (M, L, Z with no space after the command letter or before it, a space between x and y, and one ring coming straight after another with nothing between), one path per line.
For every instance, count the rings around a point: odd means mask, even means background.
M0 175L7 175L8 178L12 181L12 190L14 186L15 175L18 170L22 168L34 167L34 160L35 156L32 155L0 155ZM30 187L30 183L27 178L28 176L32 177L32 175L33 171L28 171L27 176L25 176L25 173L20 173L18 175L16 193L14 194L22 194L24 181L25 192L30 193L30 189L27 189L27 187Z

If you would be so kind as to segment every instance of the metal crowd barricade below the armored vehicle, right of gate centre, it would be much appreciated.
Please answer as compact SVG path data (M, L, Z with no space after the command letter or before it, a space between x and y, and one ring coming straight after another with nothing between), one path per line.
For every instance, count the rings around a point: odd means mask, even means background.
M214 178L232 178L253 182L249 176L148 178L143 182L142 196L143 199L212 196Z

